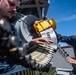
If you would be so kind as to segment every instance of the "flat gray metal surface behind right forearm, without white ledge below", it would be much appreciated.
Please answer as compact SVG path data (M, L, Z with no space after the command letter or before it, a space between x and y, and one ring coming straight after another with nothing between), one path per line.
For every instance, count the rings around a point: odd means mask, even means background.
M62 46L62 48L69 54L69 56L75 57L71 46ZM52 61L53 66L57 68L72 69L71 64L69 64L59 52L54 53Z

